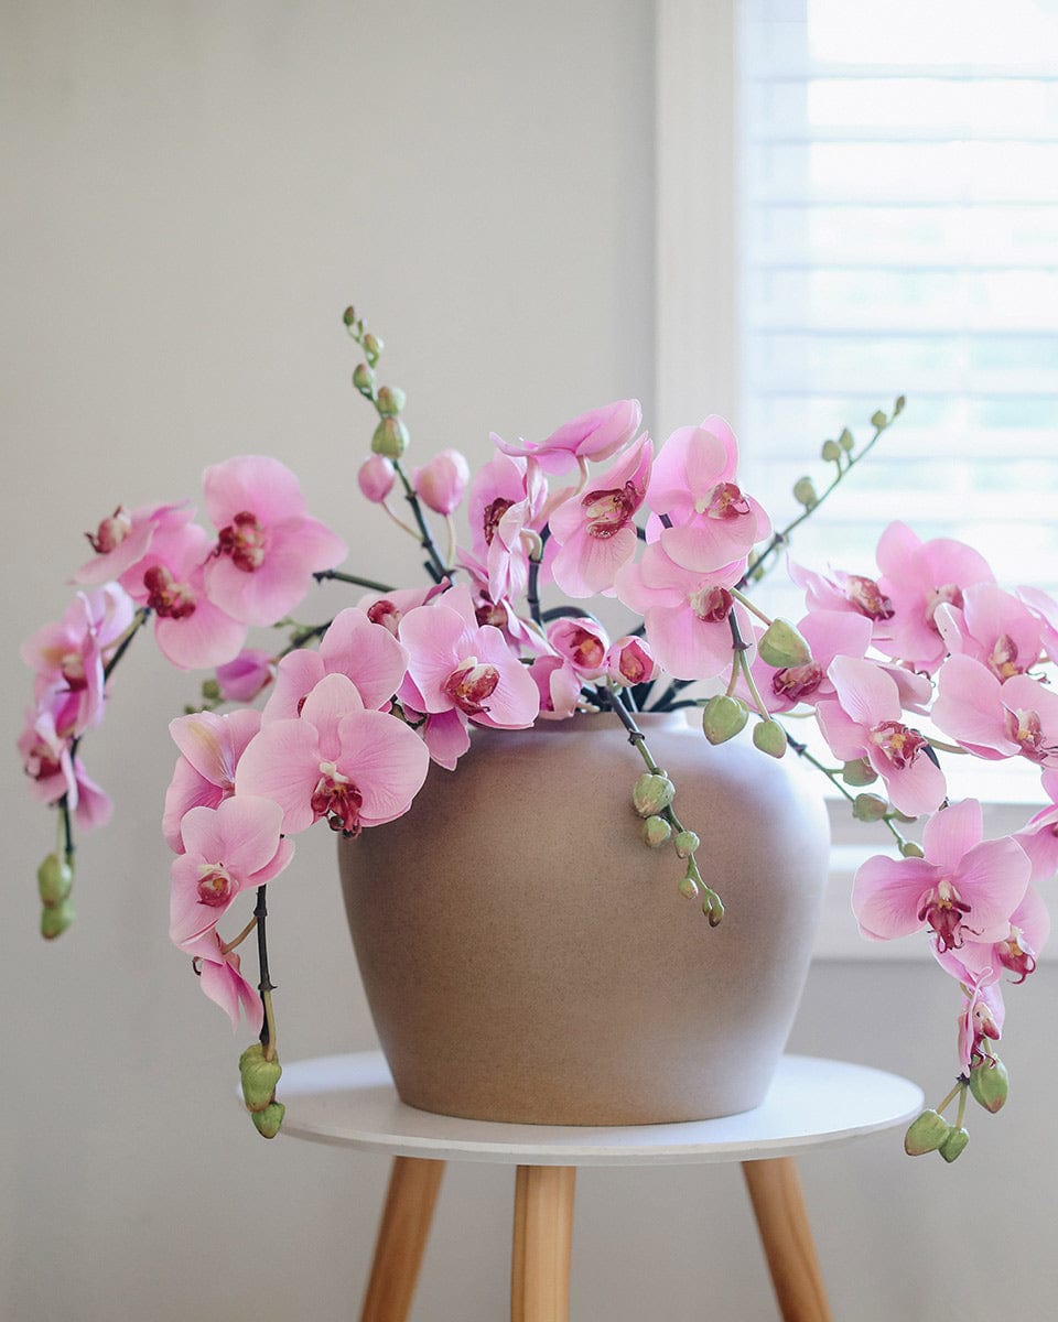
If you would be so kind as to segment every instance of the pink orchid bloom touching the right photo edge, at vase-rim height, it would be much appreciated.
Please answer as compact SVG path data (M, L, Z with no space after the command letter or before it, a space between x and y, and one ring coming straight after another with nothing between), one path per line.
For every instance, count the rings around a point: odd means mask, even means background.
M969 656L952 656L938 674L932 718L979 758L1022 756L1058 767L1058 694L1028 674L1000 682Z

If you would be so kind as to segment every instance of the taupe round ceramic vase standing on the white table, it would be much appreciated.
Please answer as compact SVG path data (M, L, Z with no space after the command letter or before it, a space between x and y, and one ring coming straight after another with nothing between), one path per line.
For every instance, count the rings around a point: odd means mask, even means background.
M411 810L343 839L345 907L397 1091L476 1120L636 1125L763 1099L804 985L827 878L817 785L792 756L710 747L640 717L726 906L681 898L631 789L614 715L475 730Z

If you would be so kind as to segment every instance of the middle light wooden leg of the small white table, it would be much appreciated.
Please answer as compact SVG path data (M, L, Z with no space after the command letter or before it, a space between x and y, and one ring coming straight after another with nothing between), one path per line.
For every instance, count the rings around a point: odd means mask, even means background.
M573 1166L518 1166L510 1322L569 1322Z

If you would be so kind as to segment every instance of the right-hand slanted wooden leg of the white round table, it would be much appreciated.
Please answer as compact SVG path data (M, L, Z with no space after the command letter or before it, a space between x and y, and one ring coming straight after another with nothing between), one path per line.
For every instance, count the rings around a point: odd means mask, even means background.
M831 1322L827 1288L794 1158L743 1161L742 1174L783 1322Z

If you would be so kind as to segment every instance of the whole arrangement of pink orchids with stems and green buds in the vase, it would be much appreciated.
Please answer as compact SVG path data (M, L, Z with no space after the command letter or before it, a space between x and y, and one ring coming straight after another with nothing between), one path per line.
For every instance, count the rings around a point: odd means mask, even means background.
M1058 867L1058 697L1047 683L1058 604L1001 588L969 546L922 542L899 522L883 533L872 575L790 562L805 596L796 625L756 604L792 533L891 426L902 398L874 414L866 443L848 430L824 443L827 485L801 479L796 514L775 527L739 486L722 419L655 448L631 399L542 442L493 435L495 455L475 475L455 449L409 471L403 393L378 383L382 342L352 308L344 324L364 360L353 385L377 415L360 490L421 545L426 579L394 587L337 568L343 541L307 513L296 477L262 456L206 471L214 531L186 504L103 518L66 615L22 646L34 685L19 750L34 797L58 817L56 850L37 874L44 936L73 920L75 828L110 812L82 740L151 623L172 665L213 672L169 726L179 750L161 824L175 855L171 936L233 1026L245 1017L258 1035L239 1062L243 1096L272 1137L283 1105L266 886L288 867L294 838L320 821L354 837L399 818L431 763L439 775L468 754L475 727L607 711L643 758L628 787L643 847L672 850L676 888L715 925L723 900L708 849L677 816L677 787L636 722L640 711L697 709L710 743L749 727L760 756L804 758L854 817L890 833L895 857L864 863L852 903L866 939L920 933L954 980L960 1069L905 1142L954 1161L968 1138L968 1097L989 1112L1006 1099L1001 978L1032 974L1049 929L1036 886ZM324 579L356 590L349 607L324 624L294 621ZM545 608L550 595L557 604ZM608 636L592 599L632 612L622 637ZM247 646L251 628L283 631L283 641ZM795 735L805 717L815 746ZM1028 759L1042 771L1046 806L1016 834L983 839L980 804L948 801L942 756L954 755ZM251 937L255 984L242 968Z

